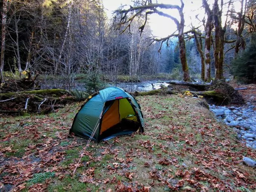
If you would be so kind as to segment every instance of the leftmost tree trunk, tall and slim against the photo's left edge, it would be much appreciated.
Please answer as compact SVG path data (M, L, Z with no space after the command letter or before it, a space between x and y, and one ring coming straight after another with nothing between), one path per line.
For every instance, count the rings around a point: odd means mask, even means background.
M6 23L7 23L7 6L8 0L3 0L3 10L2 10L2 46L1 46L1 61L0 68L3 71L4 59L5 59L5 37L6 37Z

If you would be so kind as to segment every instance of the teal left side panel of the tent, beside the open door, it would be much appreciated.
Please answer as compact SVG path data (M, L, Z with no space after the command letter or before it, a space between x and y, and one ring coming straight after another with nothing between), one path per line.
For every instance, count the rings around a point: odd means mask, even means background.
M104 101L102 101L100 94L97 94L93 98L88 100L78 112L72 127L72 132L77 134L78 136L88 139L91 136L91 133L96 126L96 123L98 122L103 106ZM96 133L94 134L92 140L98 142L98 136L99 127L96 130Z

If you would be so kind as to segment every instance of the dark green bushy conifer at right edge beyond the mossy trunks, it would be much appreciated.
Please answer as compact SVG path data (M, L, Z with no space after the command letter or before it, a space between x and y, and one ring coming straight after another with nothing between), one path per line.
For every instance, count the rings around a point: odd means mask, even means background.
M256 44L251 44L232 62L232 74L244 83L256 82Z

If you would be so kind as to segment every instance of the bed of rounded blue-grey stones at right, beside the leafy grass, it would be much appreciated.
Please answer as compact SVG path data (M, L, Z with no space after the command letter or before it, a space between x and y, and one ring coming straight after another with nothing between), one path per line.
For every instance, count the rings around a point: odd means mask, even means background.
M241 107L225 107L209 105L217 119L226 123L237 133L239 139L246 143L247 147L256 149L256 107L250 102Z

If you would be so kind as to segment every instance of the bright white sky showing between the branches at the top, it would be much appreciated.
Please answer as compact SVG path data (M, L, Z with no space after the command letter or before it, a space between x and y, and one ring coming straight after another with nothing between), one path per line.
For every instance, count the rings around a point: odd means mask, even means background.
M184 2L184 18L185 18L185 29L190 29L190 23L192 23L195 27L199 26L199 21L196 19L196 15L198 14L198 17L200 20L204 17L204 8L202 7L202 1L201 0L183 0ZM224 2L226 2L224 0ZM166 4L172 4L172 5L180 5L180 0L158 0L158 3L166 3ZM212 6L213 0L209 0L210 6ZM105 8L107 9L107 15L108 17L112 17L112 11L116 10L121 4L122 5L133 5L132 0L103 0L103 4ZM235 8L237 11L241 8L241 3L236 2ZM129 8L129 6L127 6ZM172 15L173 17L180 20L180 16L178 14L178 11L176 9L163 9L161 10L163 12L166 12L169 15ZM222 14L223 16L226 15L226 9L224 9L224 12ZM225 20L225 17L222 16L222 19ZM157 37L166 37L176 30L175 23L166 17L159 16L157 14L150 15L150 26L152 29L152 34ZM224 21L223 21L224 22Z

